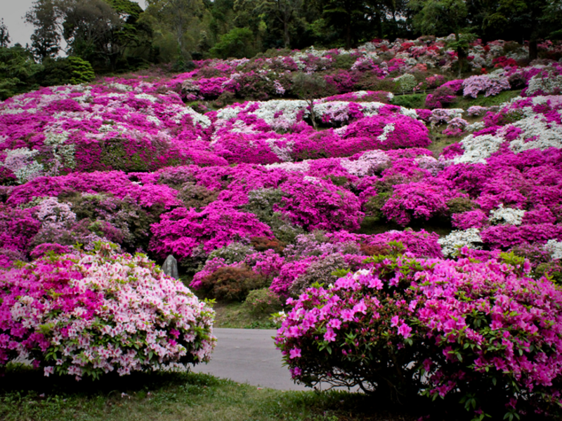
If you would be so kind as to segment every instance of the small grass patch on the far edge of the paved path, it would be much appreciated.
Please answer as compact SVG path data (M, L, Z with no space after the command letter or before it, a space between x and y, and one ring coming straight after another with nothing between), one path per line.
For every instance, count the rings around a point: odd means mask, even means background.
M275 329L277 325L269 320L268 314L250 314L242 302L216 302L214 327L243 329Z

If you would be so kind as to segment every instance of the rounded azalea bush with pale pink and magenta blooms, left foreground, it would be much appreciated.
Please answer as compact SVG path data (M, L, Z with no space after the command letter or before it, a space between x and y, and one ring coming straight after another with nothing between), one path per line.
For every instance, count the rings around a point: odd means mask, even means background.
M209 361L213 310L145 255L113 248L0 272L0 364L31 358L46 376L79 380Z

